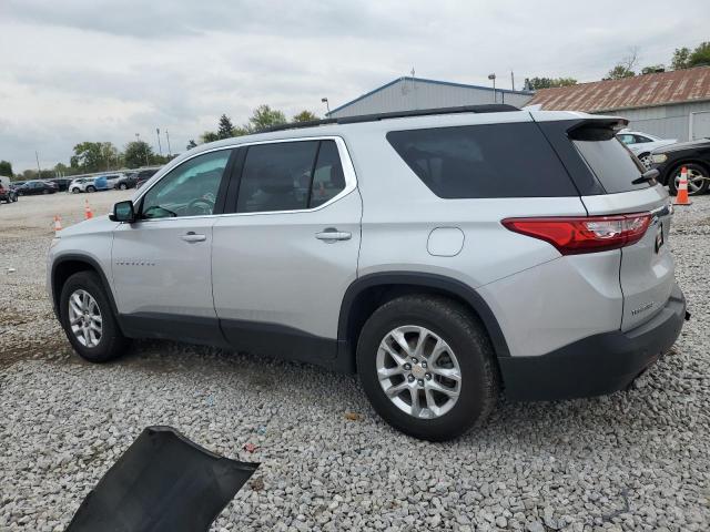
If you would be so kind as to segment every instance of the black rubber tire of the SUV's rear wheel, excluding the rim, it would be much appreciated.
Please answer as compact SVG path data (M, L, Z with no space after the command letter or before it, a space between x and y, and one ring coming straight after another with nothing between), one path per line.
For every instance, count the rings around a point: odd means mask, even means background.
M376 355L383 338L397 327L426 327L456 354L460 393L453 408L434 419L400 410L385 395L377 378ZM498 370L488 335L463 305L438 296L404 296L379 307L365 323L357 341L357 372L365 393L382 418L397 430L429 441L463 434L484 421L498 398Z

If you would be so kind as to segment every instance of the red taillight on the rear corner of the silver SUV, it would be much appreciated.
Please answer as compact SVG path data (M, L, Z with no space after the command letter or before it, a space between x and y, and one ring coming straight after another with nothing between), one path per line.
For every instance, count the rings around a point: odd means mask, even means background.
M651 214L506 218L501 223L515 233L549 242L562 255L576 255L618 249L639 242L651 223Z

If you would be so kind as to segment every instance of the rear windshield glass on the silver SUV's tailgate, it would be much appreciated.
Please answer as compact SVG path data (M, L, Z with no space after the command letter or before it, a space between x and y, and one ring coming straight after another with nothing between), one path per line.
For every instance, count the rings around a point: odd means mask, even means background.
M615 194L652 186L647 181L637 185L631 184L646 172L646 168L616 137L572 142L607 193Z

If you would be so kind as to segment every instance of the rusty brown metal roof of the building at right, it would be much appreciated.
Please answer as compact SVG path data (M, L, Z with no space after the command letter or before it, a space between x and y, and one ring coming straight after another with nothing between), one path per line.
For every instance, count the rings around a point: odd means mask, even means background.
M710 100L710 66L540 89L528 105L545 111L616 111Z

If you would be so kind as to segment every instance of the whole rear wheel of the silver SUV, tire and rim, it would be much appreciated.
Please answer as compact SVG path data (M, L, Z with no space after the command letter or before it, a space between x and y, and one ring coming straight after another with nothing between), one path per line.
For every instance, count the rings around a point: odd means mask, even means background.
M357 342L357 372L394 428L443 441L483 421L498 396L494 350L468 309L443 297L405 296L378 308Z

